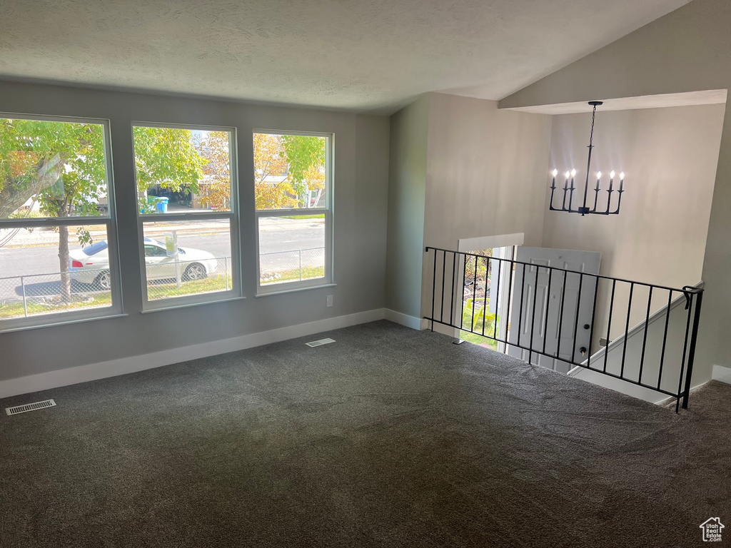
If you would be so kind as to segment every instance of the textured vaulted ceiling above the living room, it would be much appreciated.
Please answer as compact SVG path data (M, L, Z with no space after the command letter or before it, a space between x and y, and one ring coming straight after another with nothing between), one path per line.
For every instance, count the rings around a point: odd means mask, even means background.
M392 113L501 99L686 3L0 0L0 78Z

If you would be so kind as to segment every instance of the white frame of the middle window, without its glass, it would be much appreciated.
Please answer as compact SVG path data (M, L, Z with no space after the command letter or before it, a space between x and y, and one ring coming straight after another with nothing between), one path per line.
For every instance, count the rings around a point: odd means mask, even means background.
M191 129L193 131L228 132L229 140L229 173L231 178L231 207L229 211L192 210L184 213L140 213L137 191L137 163L135 161L135 127ZM137 254L140 258L140 282L142 284L142 312L154 312L181 308L191 305L205 305L212 302L224 302L243 298L240 257L240 213L238 204L238 135L232 126L208 126L194 123L167 123L132 121L132 170L135 173L135 210L137 211ZM227 219L231 244L231 289L213 291L180 297L148 298L147 265L145 263L145 224L154 222L205 221Z

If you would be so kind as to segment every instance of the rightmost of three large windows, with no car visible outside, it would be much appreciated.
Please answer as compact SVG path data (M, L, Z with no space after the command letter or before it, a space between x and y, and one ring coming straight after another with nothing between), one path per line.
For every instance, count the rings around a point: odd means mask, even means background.
M332 136L254 133L258 293L332 283Z

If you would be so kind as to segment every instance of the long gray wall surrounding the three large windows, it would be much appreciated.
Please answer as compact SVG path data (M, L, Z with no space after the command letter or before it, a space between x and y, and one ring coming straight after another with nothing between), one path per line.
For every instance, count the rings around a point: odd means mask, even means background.
M117 194L126 317L0 335L0 380L206 343L385 305L389 120L386 117L182 99L23 83L0 83L0 112L108 118ZM132 121L238 129L240 243L246 300L140 313L142 283ZM333 132L336 287L254 297L253 129ZM333 308L325 307L334 295Z

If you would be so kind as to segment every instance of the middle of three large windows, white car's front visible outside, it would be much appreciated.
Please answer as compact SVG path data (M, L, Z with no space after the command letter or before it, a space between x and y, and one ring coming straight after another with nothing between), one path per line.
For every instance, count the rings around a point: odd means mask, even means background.
M234 131L132 132L145 308L238 297Z

